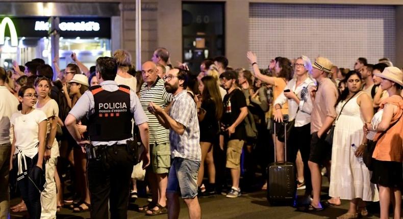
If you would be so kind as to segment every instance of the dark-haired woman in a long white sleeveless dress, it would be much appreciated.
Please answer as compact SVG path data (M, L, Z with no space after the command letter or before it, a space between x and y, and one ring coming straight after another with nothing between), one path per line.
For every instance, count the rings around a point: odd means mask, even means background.
M337 103L333 137L330 197L350 200L347 213L339 219L367 215L362 201L379 201L376 186L370 183L371 172L360 160L366 137L362 127L373 116L371 97L361 91L361 75L350 71L345 77L346 88ZM341 111L341 112L340 112Z

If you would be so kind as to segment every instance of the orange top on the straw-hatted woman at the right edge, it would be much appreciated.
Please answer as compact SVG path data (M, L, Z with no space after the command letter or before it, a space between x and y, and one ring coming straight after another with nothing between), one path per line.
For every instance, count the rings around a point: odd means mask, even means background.
M403 100L398 95L393 95L391 97L386 98L380 104L380 108L383 108L386 103L390 103L396 105L398 107L397 114L392 117L391 124L399 121L394 124L393 127L389 128L389 130L378 140L376 143L375 149L373 151L372 157L377 160L383 161L403 161ZM377 140L382 132L378 132L375 135L374 140Z

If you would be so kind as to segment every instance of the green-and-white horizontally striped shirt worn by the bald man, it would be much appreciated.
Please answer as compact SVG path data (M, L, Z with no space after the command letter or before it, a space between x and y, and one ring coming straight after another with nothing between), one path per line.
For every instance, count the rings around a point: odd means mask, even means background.
M149 89L147 83L141 86L140 90L140 103L143 107L145 115L148 117L148 128L150 135L150 143L164 144L169 143L169 130L164 128L155 115L147 110L150 102L153 102L162 108L165 108L172 100L172 94L165 91L164 81L157 78L154 85Z

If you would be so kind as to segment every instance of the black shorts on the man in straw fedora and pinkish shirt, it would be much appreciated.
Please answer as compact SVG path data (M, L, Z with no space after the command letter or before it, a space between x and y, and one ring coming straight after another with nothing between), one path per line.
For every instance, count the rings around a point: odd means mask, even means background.
M325 138L325 133L320 139L317 131L312 133L309 161L321 165L324 161L332 159L332 146L324 141Z

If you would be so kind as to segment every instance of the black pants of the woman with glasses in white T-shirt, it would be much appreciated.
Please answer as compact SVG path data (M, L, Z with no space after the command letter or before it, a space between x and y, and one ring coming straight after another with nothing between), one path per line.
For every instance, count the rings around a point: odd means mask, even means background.
M27 210L30 213L31 219L39 219L41 217L41 194L34 183L28 179L33 168L36 166L38 161L38 154L36 154L32 159L26 156L27 161L27 172L28 175L24 176L22 179L17 181L19 191L21 193L22 200L24 200L27 205ZM18 159L14 160L13 168L18 168ZM44 165L44 162L43 162ZM43 170L44 167L42 167Z

